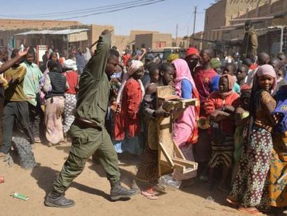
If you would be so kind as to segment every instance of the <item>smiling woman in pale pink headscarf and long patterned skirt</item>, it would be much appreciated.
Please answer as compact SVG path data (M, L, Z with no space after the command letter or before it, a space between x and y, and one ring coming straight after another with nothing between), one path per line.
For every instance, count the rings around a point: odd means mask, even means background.
M262 65L254 76L250 99L250 123L243 144L240 166L227 201L244 213L260 214L259 206L266 204L266 185L273 142L271 133L277 124L272 112L276 101L271 96L277 86L276 72L271 65Z

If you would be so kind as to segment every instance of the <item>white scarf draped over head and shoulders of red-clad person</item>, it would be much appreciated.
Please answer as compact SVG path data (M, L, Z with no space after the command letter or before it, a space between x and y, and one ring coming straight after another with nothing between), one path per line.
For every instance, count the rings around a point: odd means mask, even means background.
M116 98L116 103L118 103L119 107L121 108L121 101L123 99L123 88L125 88L125 83L127 83L128 78L134 74L134 72L137 72L139 67L142 67L143 63L140 60L132 60L132 65L128 68L128 72L123 74L123 81L121 84L121 88L119 89L118 97ZM141 82L140 79L137 80L139 82L139 85L141 86L141 97L143 99L145 90L143 87L143 83Z

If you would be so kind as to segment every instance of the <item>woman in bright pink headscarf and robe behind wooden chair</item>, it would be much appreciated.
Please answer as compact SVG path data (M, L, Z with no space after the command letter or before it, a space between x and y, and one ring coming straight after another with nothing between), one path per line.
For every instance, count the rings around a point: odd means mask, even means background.
M195 98L199 101L198 90L191 76L189 65L187 65L183 59L173 60L172 65L175 68L175 78L173 78L173 82L176 94L184 99ZM180 112L180 110L178 112ZM186 108L173 122L173 141L177 147L180 148L186 160L194 161L193 144L198 141L197 121L199 113L200 105L189 106L189 108ZM177 180L182 180L183 187L189 186L193 184L191 178L196 176L196 171L182 174L175 170L173 176L177 178Z

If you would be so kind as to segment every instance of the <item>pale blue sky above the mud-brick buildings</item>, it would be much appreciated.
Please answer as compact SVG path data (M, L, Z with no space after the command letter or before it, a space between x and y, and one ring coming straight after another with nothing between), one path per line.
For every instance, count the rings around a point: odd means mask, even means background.
M148 0L143 0L148 2ZM132 0L12 0L1 4L0 18L24 18L33 15L33 19L62 19L94 12L64 12L72 10L91 9L102 6L132 2ZM129 35L130 30L150 30L161 33L172 33L175 36L178 24L178 36L187 35L193 31L193 11L198 6L195 32L202 31L205 24L205 10L214 0L165 0L139 8L129 8L113 13L103 13L88 17L77 17L69 20L83 24L109 24L115 27L117 35ZM113 9L118 8L116 6ZM103 11L103 10L102 10ZM98 11L96 11L98 12ZM51 13L61 13L53 15ZM41 17L41 14L49 17Z

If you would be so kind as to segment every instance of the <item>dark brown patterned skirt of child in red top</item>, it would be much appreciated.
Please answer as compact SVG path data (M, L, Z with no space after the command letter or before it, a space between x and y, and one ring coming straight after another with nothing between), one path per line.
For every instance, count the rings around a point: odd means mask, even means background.
M234 152L234 136L225 135L223 143L216 143L211 141L211 159L209 167L213 168L217 165L232 166Z

